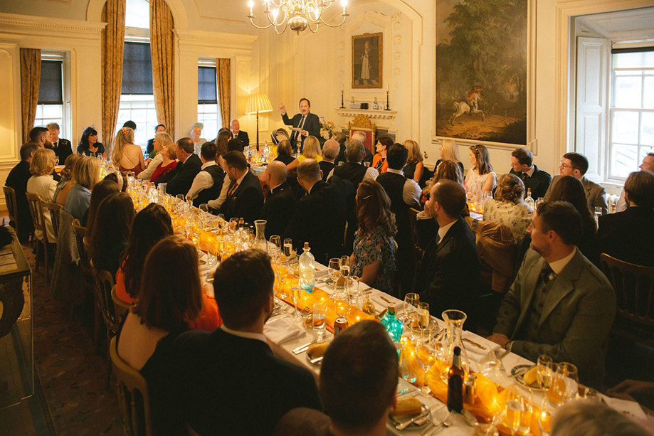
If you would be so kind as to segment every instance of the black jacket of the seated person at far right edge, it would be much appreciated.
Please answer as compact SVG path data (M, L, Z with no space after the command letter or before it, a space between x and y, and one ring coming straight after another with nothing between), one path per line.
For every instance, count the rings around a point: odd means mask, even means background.
M654 267L654 211L630 206L626 211L599 217L599 252L625 262Z

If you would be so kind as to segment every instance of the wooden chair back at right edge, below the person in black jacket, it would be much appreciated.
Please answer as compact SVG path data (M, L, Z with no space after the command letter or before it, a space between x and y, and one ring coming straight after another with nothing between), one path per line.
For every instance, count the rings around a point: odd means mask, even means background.
M602 253L604 275L616 291L617 313L611 333L654 347L654 267L645 267Z

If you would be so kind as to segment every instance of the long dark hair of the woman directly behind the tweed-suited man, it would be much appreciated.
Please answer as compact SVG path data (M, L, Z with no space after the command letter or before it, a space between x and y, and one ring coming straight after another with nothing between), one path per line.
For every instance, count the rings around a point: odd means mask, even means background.
M552 186L549 201L568 201L576 208L581 215L581 243L579 250L588 260L595 265L599 265L599 252L595 234L597 233L597 223L593 214L588 207L586 200L586 189L581 181L574 176L562 176L559 181Z

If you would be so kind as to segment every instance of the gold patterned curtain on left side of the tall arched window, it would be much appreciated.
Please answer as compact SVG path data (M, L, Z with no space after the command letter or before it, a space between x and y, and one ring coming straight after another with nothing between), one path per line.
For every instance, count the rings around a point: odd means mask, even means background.
M125 0L107 0L102 8L102 141L107 156L118 119L122 89L122 58L125 51Z

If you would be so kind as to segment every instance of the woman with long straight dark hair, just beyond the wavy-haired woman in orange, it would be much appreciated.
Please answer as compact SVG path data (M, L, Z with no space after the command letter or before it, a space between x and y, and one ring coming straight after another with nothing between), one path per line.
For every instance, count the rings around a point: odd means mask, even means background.
M112 181L107 183L118 188ZM89 257L97 270L106 270L112 276L116 275L135 216L132 197L127 193L112 193L100 202L97 215L88 226Z

